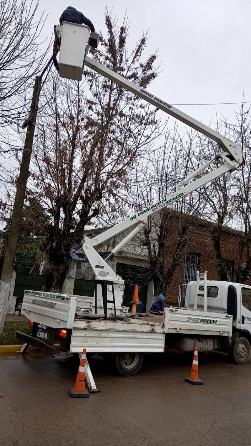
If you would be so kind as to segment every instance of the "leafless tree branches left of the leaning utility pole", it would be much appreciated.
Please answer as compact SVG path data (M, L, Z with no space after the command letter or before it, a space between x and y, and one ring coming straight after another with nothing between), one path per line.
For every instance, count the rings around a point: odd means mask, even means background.
M41 31L44 14L37 17L38 1L0 0L0 211L12 213L15 168L23 152L22 128L29 115L35 75L42 70L48 48Z

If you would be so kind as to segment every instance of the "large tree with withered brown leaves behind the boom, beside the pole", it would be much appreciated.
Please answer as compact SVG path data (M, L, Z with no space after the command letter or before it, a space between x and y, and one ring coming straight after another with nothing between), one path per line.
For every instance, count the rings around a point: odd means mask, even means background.
M146 36L132 52L121 26L106 11L107 36L93 57L142 87L158 75L156 55L142 58ZM156 110L132 93L91 71L85 91L54 83L47 91L29 195L37 195L51 215L44 268L44 289L60 291L69 268L70 248L91 222L111 224L123 216L134 165L159 135ZM47 109L47 115L45 113Z

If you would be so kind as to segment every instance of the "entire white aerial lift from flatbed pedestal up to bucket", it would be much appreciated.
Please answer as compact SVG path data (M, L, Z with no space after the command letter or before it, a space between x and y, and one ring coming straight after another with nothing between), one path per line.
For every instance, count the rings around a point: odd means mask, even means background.
M66 24L66 25L64 25ZM70 25L70 26L68 26ZM67 22L63 23L63 26L65 28L70 27L69 33L75 33L74 31L74 24L67 24ZM182 111L178 110L177 108L170 105L168 102L164 101L163 99L160 99L150 93L149 91L145 90L144 88L139 87L138 85L132 83L128 79L124 78L118 73L113 72L109 68L101 65L99 62L91 59L86 54L88 52L88 36L90 35L90 29L86 27L85 25L76 25L77 32L79 31L79 27L85 28L85 31L87 29L88 32L82 33L82 35L87 36L87 40L85 43L85 50L82 50L82 53L85 53L84 57L84 64L91 68L91 70L96 71L99 74L102 74L106 78L110 79L111 81L115 82L116 84L120 85L121 87L125 88L128 91L131 91L133 94L139 96L140 98L144 99L148 103L151 103L155 107L159 108L162 111L165 111L165 113L168 113L169 115L173 116L174 118L177 118L181 122L183 122L186 125L189 125L189 127L194 128L198 132L208 136L210 139L216 141L219 145L219 152L216 154L214 159L210 161L206 161L202 166L200 166L198 169L196 169L193 173L191 173L188 177L186 177L184 180L182 180L176 187L176 191L168 195L167 197L163 198L159 202L148 206L148 208L144 209L143 211L140 211L133 215L132 217L124 220L123 222L115 225L114 227L111 227L110 229L107 229L107 231L102 232L101 234L95 236L93 239L90 239L87 235L84 236L84 240L82 240L82 249L88 259L88 261L91 264L91 268L93 269L96 277L96 287L95 287L95 313L97 311L100 312L101 307L104 308L105 318L107 318L107 302L111 305L108 305L111 309L115 307L119 309L122 305L122 298L123 298L123 284L124 281L119 277L115 271L107 264L106 260L108 257L110 257L112 254L115 254L118 252L124 244L126 244L129 240L132 239L134 235L136 235L147 223L148 217L152 215L154 212L159 211L160 209L168 206L170 203L178 200L179 198L184 197L185 195L189 194L190 192L193 192L193 190L199 189L201 186L205 185L206 183L214 180L215 178L220 177L223 173L230 172L232 170L237 169L240 165L243 164L243 154L241 147L236 144L235 142L232 142L231 140L227 139L225 136L222 136L220 133L216 132L215 130L211 129L210 127L207 127L205 124L202 124L198 120L193 119L192 117L186 115ZM67 31L68 33L68 31ZM63 27L62 29L58 26L57 27L57 35L63 36ZM70 35L70 34L69 34ZM67 34L68 36L68 34ZM62 51L62 44L60 50ZM69 47L69 40L67 37L67 45ZM75 41L76 43L76 41ZM83 43L81 42L81 45ZM74 49L76 54L78 54L78 49ZM62 52L64 55L64 73L67 72L67 69L69 69L69 73L72 73L72 53L71 53L71 62L69 63L69 67L67 66L67 57L66 52ZM61 63L61 60L59 58L59 65ZM71 65L70 65L71 64ZM81 67L81 63L78 62L78 65ZM79 69L78 66L78 69ZM63 68L61 67L61 70ZM64 75L64 77L67 77L67 75ZM70 78L70 77L69 77ZM213 164L215 161L218 163L218 168L211 170L209 173L206 173L204 177L199 177L195 181L191 182L191 180L199 173L201 173L203 170L207 169L211 164ZM96 251L96 247L105 242L106 240L110 239L111 237L114 237L115 235L119 234L120 232L124 230L128 230L128 228L135 226L132 231L124 237L124 239L111 250L111 254L107 257L107 259L103 259L99 253ZM79 246L79 245L78 245ZM71 254L73 254L73 258L76 260L81 261L81 258L76 255L77 249L75 251L73 250ZM108 286L110 285L110 287ZM115 286L115 290L114 290ZM107 290L108 289L108 290ZM97 291L98 290L98 291ZM100 293L100 291L102 291ZM102 295L103 297L103 305L101 307L98 305L97 302L101 303L101 300L97 297L97 295ZM112 300L107 301L107 297L112 298ZM94 311L94 309L93 309ZM103 311L103 310L102 310ZM116 314L115 314L116 316Z

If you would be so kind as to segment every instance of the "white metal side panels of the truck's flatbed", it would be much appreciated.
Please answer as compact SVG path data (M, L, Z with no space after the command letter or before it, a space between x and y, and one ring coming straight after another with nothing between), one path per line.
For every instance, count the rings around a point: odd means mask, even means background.
M202 310L165 308L163 316L105 320L84 313L76 317L90 297L25 290L21 313L33 322L55 329L72 329L70 352L163 352L165 335L231 336L232 316ZM81 304L81 305L80 305ZM128 318L127 318L128 319Z

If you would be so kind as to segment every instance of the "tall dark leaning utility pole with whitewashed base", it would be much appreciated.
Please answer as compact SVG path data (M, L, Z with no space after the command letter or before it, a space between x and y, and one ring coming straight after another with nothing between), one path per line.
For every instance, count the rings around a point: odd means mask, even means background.
M4 329L5 311L10 293L12 270L16 257L16 247L22 218L22 210L25 201L26 184L29 175L29 163L31 158L33 137L37 119L37 109L41 91L42 76L45 73L45 70L48 68L49 64L51 63L52 59L53 57L50 58L49 62L45 66L41 75L37 76L35 79L29 118L23 124L23 128L27 127L27 132L26 132L22 162L20 166L20 173L16 187L16 198L12 212L12 219L10 224L8 242L4 256L4 264L0 281L0 333L2 333Z

